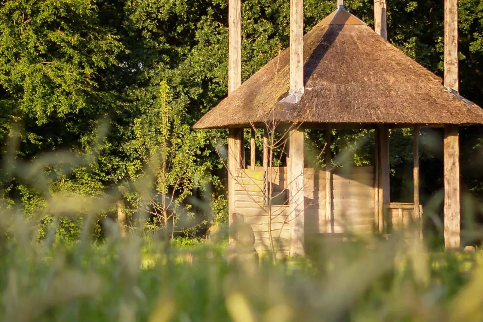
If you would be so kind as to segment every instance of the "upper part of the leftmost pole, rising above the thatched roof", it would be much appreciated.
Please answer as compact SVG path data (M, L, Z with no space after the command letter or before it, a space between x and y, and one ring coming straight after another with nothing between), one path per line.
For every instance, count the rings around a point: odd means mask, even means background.
M228 0L228 95L241 85L241 0Z

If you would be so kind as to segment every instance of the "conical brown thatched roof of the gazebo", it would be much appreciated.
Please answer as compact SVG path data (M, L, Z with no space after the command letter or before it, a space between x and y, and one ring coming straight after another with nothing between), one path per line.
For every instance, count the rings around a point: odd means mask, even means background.
M483 124L483 110L445 90L429 72L369 26L338 9L304 36L305 93L289 89L289 49L210 110L195 128L266 121L306 124Z

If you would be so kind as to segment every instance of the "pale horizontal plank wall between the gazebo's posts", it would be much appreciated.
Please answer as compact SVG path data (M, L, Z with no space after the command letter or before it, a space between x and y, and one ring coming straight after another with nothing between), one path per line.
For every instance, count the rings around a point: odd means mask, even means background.
M267 179L272 183L271 231L278 254L288 254L290 222L287 206L287 168L271 167ZM264 205L263 167L241 169L235 185L235 208L244 221L252 225L256 250L270 249L269 207ZM332 176L334 232L372 232L374 223L374 167L355 167L349 171L335 169ZM326 173L305 168L305 231L327 233ZM330 231L328 231L330 232Z

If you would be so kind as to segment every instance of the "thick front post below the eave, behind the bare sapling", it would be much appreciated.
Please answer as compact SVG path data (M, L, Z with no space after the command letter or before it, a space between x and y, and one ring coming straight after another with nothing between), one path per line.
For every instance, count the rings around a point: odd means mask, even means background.
M289 137L290 256L304 254L304 133L291 130Z

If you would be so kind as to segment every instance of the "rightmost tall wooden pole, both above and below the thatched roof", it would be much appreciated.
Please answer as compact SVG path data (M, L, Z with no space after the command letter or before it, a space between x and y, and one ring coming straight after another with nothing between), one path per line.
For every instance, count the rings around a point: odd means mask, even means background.
M458 1L444 1L444 86L459 91ZM460 180L458 126L444 127L444 246L459 248Z

